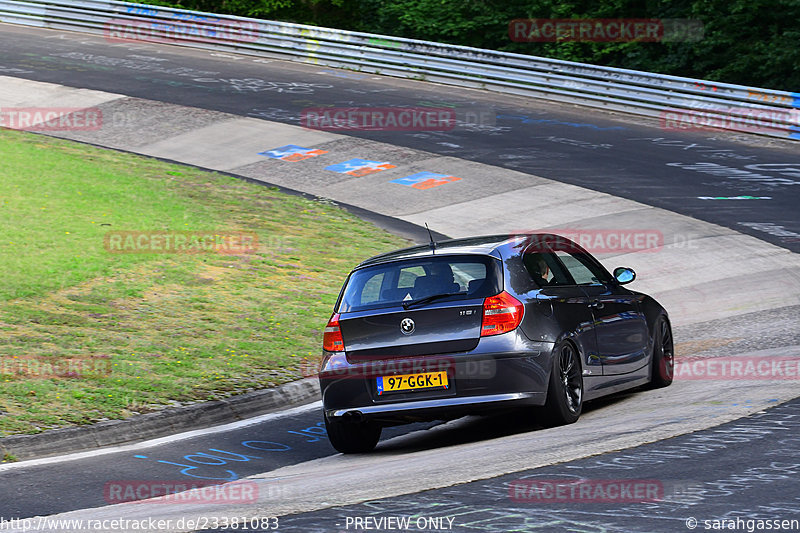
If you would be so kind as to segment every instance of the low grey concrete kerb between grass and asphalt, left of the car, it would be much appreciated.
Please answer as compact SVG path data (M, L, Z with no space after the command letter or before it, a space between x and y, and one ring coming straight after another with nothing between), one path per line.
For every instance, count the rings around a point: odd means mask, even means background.
M316 378L306 378L272 389L248 392L223 400L171 407L125 420L52 429L36 435L3 437L0 438L0 453L24 460L141 442L282 411L318 398L319 382Z

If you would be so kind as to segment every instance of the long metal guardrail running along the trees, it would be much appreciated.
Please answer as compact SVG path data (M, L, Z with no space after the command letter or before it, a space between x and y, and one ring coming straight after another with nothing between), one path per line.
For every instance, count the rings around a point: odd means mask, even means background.
M119 1L0 0L0 22L223 50L800 139L800 93Z

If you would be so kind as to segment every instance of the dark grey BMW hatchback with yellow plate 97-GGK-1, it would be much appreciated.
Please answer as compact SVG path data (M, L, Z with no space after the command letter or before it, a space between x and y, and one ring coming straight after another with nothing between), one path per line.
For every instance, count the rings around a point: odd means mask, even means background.
M448 240L379 255L348 276L319 373L331 444L385 426L528 409L575 422L583 402L672 382L669 318L585 249L551 234Z

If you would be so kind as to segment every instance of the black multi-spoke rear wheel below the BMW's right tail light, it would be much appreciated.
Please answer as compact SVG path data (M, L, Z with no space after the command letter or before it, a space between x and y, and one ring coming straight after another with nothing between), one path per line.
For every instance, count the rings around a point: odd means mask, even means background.
M583 410L583 373L575 346L562 341L553 348L553 370L542 419L547 426L572 424Z

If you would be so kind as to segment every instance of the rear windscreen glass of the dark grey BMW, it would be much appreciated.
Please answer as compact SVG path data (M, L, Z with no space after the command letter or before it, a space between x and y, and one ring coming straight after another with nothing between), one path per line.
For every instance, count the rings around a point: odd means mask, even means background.
M501 269L489 256L440 256L357 270L347 282L338 312L394 307L436 294L437 301L485 298L500 292Z

